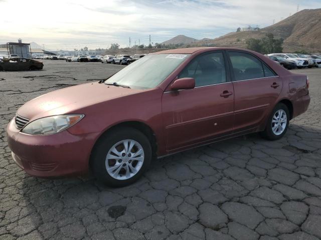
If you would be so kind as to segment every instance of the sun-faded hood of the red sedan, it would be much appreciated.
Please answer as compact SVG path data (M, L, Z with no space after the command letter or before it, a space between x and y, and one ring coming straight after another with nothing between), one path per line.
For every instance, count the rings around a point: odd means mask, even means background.
M140 91L143 90L106 85L98 82L85 83L38 96L21 106L17 114L34 120L51 115L83 113L77 112L77 110Z

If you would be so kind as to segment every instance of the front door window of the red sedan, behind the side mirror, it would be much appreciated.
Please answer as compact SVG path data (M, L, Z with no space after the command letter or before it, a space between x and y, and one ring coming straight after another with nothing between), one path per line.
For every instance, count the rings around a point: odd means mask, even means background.
M222 52L195 57L179 74L179 78L193 77L195 86L226 82L226 70Z

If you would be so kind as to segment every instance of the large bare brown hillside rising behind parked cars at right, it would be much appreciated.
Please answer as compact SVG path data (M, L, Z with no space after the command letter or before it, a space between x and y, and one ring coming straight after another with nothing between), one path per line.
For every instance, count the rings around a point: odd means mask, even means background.
M321 51L321 8L301 10L282 21L261 28L259 31L230 32L213 40L201 40L195 46L246 47L249 38L261 39L271 32L275 38L283 38L283 51Z

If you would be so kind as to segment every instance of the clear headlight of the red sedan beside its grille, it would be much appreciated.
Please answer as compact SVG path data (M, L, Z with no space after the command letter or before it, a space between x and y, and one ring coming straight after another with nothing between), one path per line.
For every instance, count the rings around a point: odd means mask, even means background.
M55 134L72 126L83 117L84 114L70 114L39 118L28 123L22 132L33 135Z

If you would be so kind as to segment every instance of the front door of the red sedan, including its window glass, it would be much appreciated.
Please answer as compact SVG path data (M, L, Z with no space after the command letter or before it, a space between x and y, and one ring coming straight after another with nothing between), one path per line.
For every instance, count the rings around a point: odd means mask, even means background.
M178 78L195 88L164 92L162 110L167 150L206 143L233 130L234 90L222 51L196 56Z

